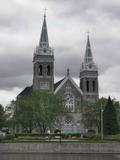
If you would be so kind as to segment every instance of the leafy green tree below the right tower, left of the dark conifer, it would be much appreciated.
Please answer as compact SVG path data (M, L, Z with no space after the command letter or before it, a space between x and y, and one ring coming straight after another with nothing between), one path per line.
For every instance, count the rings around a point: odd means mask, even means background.
M101 98L83 104L82 123L85 128L101 131L101 109L105 108L106 102L106 98Z

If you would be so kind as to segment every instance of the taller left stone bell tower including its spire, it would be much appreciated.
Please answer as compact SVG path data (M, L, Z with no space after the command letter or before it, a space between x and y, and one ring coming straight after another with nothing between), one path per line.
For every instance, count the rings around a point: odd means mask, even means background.
M33 57L33 89L54 90L54 53L49 46L46 15Z

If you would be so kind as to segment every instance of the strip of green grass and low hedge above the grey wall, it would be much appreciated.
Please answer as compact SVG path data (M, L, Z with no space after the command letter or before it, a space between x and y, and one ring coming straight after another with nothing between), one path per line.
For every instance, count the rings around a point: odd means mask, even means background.
M18 136L17 138L13 135L6 136L6 138L1 139L0 143L60 143L59 139L48 140L44 136ZM71 138L62 138L62 144L82 144L82 143L120 143L120 134L117 135L105 135L104 139L100 139L100 135L92 135L87 138L80 137L71 137Z

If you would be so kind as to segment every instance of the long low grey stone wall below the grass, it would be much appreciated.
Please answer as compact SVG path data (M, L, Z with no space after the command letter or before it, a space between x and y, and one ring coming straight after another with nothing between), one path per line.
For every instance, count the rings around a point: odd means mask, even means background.
M0 144L0 153L110 153L120 154L119 143L95 144Z

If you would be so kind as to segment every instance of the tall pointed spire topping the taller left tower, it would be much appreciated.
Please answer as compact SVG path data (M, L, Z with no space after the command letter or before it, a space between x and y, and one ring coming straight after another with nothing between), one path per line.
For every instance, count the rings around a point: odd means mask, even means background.
M47 24L46 24L46 13L44 13L44 20L43 20L43 26L42 26L39 46L42 48L44 47L49 48L48 32L47 32Z

